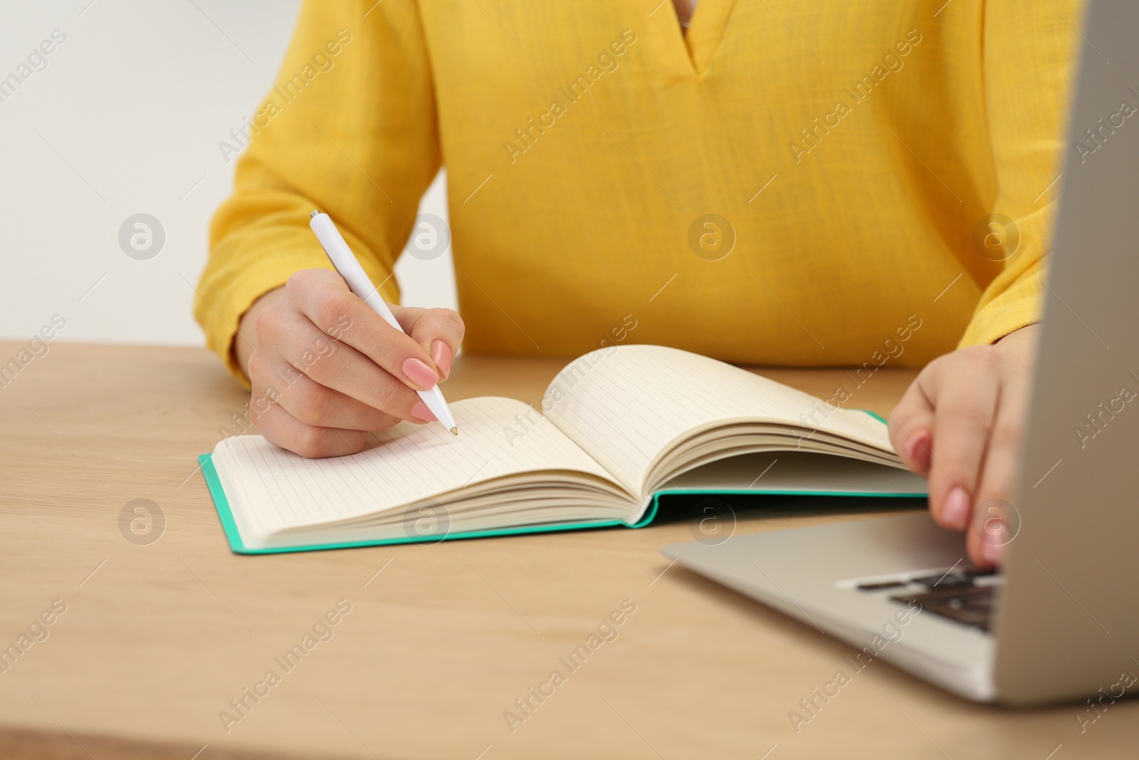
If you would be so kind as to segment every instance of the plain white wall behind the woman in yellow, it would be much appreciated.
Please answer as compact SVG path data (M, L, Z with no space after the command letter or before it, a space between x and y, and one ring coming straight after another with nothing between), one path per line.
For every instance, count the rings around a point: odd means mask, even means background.
M0 338L27 340L59 312L60 341L203 342L191 285L236 164L218 142L269 91L297 7L0 0L0 79L52 30L67 35L0 103ZM421 210L446 219L444 181ZM166 234L147 261L118 245L136 213ZM404 255L396 276L404 303L454 308L450 252Z

